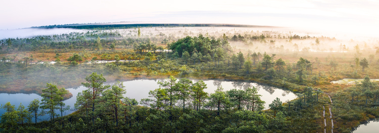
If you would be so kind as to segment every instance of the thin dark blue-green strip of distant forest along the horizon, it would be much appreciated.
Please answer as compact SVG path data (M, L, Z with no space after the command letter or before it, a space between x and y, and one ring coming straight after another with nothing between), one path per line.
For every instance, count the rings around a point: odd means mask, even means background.
M67 24L67 25L49 25L31 28L73 28L73 29L126 29L136 27L255 27L255 28L275 28L274 26L257 26L257 25L236 25L236 24ZM276 27L277 28L277 27Z

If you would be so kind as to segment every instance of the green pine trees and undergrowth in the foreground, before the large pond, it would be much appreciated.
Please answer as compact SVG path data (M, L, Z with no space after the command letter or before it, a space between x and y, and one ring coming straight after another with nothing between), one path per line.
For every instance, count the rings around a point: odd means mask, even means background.
M270 104L271 116L262 112L263 103L257 88L232 89L215 93L204 92L203 81L192 83L188 79L170 76L158 82L160 88L150 91L151 99L123 97L122 83L104 85L103 75L92 73L82 83L87 90L77 95L76 112L63 116L70 107L62 102L67 93L64 88L47 84L41 102L33 100L28 108L18 109L9 102L2 105L1 132L265 132L283 128L288 121L281 101ZM57 110L61 114L57 114ZM49 121L37 122L37 117L50 115ZM31 122L32 119L34 123ZM277 126L280 124L280 126Z

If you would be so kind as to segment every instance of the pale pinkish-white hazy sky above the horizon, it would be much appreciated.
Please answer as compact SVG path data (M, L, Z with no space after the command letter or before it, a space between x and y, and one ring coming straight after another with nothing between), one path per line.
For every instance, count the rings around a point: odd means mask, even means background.
M218 23L379 35L379 0L0 2L0 30L83 23Z

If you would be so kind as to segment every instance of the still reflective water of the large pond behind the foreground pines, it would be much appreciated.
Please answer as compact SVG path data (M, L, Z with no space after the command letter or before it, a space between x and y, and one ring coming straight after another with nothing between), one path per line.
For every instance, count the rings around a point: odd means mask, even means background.
M143 98L149 98L149 91L154 90L156 88L159 88L159 85L157 84L159 80L133 80L133 81L126 81L123 82L126 94L125 97L134 98L138 102L140 99ZM160 80L163 81L163 80ZM197 82L197 80L193 80L194 82ZM262 95L261 99L265 101L264 107L267 109L268 105L276 98L280 98L282 102L286 102L287 100L293 100L297 96L287 90L281 90L276 87L271 87L267 85L259 85L257 83L249 83L249 82L231 82L231 81L217 81L217 80L207 80L204 81L205 84L207 84L207 89L204 91L208 94L214 93L214 91L217 89L218 86L222 86L224 88L224 91L228 91L230 89L245 89L248 87L257 87L259 89L258 93ZM63 101L66 105L70 105L71 108L74 107L74 104L76 102L76 96L79 92L85 90L87 88L83 86L79 86L77 88L69 88L67 89L70 91L73 95L70 99L67 99ZM29 105L29 103L33 100L38 98L39 100L42 99L41 96L37 94L7 94L7 93L1 93L0 94L0 104L5 104L7 102L11 102L11 104L16 105L16 109L20 103L22 103L25 107ZM70 114L74 112L75 110L69 110L63 113L63 115ZM3 114L5 112L4 109L0 109L0 114ZM60 112L57 112L58 114L61 114ZM48 116L40 116L40 120L48 120Z

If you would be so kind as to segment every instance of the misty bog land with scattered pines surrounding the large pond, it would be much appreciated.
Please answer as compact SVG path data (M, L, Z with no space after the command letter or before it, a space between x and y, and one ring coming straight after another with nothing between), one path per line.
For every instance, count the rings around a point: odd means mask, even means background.
M370 80L377 78L379 52L363 42L342 45L323 36L235 29L164 33L158 25L138 26L0 40L0 92L43 97L18 108L2 105L0 131L350 132L379 116L379 86ZM328 43L338 43L337 52ZM121 82L106 84L136 78L165 80L145 99L123 97ZM364 80L330 83L343 78ZM208 94L202 79L254 81L298 98L276 99L264 110L257 88L220 87ZM80 85L87 90L75 107L64 105L72 97L64 88ZM76 111L63 116L68 109ZM42 114L50 120L37 121Z

